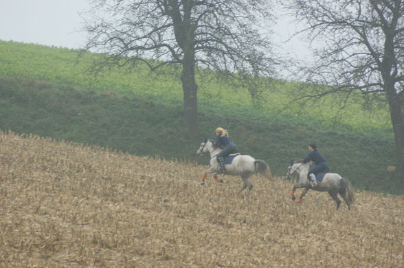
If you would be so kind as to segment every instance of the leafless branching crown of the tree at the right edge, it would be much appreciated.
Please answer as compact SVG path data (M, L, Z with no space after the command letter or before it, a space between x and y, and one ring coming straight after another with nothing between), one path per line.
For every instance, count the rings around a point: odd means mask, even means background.
M324 43L317 51L309 81L334 89L385 93L394 77L396 94L403 94L404 7L402 1L293 1L304 34ZM377 95L376 95L377 96Z

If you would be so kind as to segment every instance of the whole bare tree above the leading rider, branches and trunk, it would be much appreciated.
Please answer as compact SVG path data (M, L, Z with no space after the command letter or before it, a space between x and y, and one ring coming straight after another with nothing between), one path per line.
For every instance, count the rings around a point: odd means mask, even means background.
M262 34L269 10L266 0L93 0L85 51L105 53L98 66L179 66L186 133L195 136L197 70L240 82L272 74L271 43Z

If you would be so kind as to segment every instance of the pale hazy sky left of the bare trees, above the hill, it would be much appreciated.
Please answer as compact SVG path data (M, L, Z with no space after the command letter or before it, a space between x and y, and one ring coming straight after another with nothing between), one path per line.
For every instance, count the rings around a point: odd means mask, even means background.
M78 48L85 42L79 12L87 0L0 0L0 39Z

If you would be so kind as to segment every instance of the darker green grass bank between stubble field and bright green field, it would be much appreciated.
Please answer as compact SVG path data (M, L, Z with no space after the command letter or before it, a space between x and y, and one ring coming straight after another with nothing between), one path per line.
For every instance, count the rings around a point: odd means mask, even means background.
M284 175L291 159L303 158L307 144L316 141L334 172L361 189L402 194L399 182L385 167L393 162L389 138L355 132L337 132L315 121L299 121L287 114L221 103L203 103L200 134L189 140L181 131L181 100L128 97L117 93L76 90L50 82L0 80L0 126L3 130L32 133L86 145L117 149L138 156L159 156L207 165L195 153L204 137L213 137L218 125L229 129L243 154L266 160L273 173ZM234 111L219 116L219 109Z

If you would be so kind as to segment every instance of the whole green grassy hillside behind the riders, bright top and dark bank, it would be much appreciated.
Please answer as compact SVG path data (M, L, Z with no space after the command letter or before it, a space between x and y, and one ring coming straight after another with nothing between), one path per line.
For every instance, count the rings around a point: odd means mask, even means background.
M1 130L207 165L208 157L196 151L222 126L241 153L266 160L275 175L284 175L290 160L306 156L315 141L332 170L355 187L404 193L385 170L394 162L394 144L383 111L368 117L352 105L346 114L355 117L333 123L333 108L284 110L291 83L276 84L255 107L243 90L218 90L223 86L210 82L199 93L199 137L189 140L175 77L147 77L142 66L91 77L85 74L91 55L78 64L76 56L70 49L0 42Z

